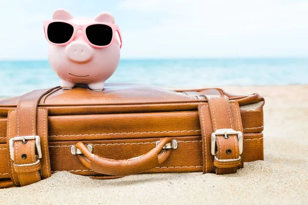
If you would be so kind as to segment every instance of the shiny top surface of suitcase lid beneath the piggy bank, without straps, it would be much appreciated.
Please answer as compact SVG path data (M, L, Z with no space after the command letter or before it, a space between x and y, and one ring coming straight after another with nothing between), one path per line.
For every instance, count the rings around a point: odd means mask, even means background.
M39 106L79 106L79 105L137 105L161 103L197 103L206 101L202 95L225 94L240 105L259 103L263 97L258 94L230 95L221 89L168 90L139 84L106 84L103 91L92 91L86 86L76 86L71 90L62 88L42 97ZM21 96L0 100L0 107L15 107Z

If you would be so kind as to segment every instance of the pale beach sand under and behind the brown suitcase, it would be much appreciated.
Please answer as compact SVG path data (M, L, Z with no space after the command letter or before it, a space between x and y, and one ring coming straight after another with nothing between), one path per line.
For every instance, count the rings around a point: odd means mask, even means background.
M59 172L33 185L0 190L0 204L308 204L308 86L224 87L259 93L264 161L236 174L140 174L113 180Z

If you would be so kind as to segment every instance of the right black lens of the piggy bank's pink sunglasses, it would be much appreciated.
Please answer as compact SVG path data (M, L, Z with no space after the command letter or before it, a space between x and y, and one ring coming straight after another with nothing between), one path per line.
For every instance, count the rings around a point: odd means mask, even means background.
M91 44L107 46L112 40L112 28L103 24L94 24L86 28L86 34Z

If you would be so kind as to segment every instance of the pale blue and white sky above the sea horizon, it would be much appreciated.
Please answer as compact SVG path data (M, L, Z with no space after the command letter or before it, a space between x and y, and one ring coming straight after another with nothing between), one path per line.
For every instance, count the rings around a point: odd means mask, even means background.
M112 13L124 59L308 57L308 0L0 0L0 59L47 59L56 8Z

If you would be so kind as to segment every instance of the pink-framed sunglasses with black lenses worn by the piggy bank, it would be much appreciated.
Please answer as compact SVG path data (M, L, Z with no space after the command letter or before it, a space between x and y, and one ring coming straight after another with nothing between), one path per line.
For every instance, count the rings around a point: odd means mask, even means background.
M106 48L113 43L115 32L120 38L122 47L122 36L118 25L95 22L86 25L76 25L65 20L45 20L45 37L50 44L65 46L71 43L81 30L86 42L96 48Z

